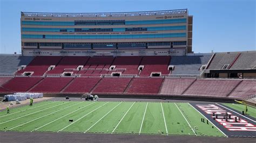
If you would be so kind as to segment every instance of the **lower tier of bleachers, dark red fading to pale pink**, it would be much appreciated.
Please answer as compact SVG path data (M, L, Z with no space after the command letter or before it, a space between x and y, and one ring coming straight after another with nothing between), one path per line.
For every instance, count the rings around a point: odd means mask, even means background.
M256 94L256 81L157 77L14 77L0 86L0 92L26 91L247 98Z

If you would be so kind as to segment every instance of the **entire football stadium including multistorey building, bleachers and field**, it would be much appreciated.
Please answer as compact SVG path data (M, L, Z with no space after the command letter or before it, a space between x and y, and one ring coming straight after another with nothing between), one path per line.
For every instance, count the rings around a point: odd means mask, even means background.
M22 11L1 138L255 142L256 51L194 53L192 27L188 9Z

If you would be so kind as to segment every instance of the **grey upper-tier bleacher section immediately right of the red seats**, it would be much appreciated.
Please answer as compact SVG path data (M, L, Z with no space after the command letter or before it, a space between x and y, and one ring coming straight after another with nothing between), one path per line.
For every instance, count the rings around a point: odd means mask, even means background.
M172 56L170 65L174 66L172 75L200 75L202 65L207 65L212 54L193 56Z

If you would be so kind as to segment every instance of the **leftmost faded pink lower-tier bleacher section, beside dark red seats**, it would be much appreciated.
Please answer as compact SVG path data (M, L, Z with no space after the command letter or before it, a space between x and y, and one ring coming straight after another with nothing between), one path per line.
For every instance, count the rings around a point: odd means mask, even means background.
M181 95L195 80L193 78L165 78L160 94Z

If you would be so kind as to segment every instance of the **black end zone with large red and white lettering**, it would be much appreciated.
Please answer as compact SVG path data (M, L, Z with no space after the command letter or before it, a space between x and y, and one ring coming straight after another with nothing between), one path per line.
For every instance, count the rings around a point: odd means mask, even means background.
M256 124L251 118L228 110L221 105L192 103L200 113L228 137L256 137Z

